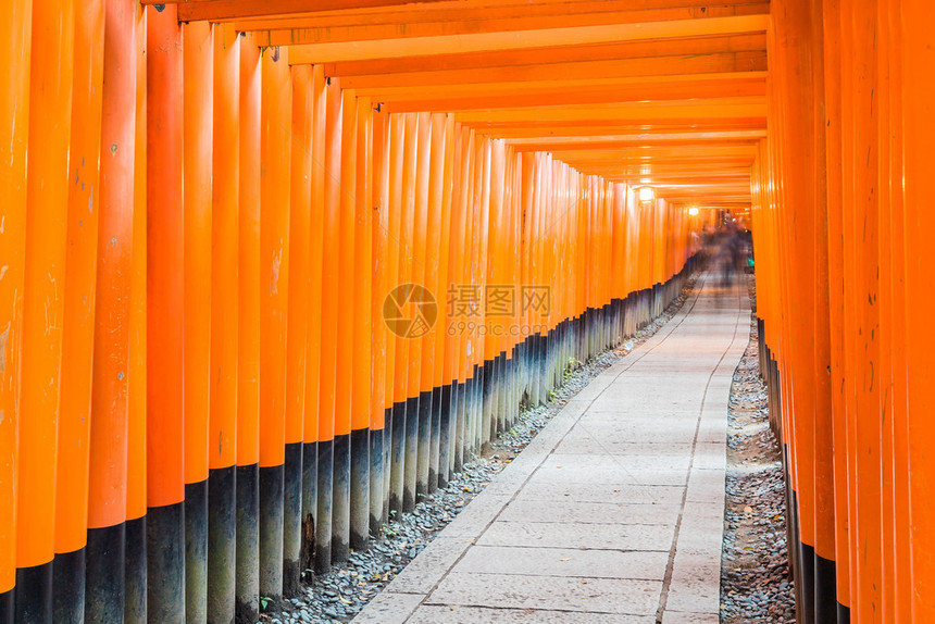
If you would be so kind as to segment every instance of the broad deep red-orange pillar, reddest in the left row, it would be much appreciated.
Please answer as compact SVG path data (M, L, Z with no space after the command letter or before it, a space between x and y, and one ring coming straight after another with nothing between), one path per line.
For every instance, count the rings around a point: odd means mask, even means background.
M182 28L147 12L147 613L184 622Z

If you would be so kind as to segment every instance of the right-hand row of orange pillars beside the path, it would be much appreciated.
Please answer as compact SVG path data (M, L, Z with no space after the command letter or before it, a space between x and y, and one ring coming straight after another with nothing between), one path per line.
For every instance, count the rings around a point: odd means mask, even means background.
M771 13L752 220L798 620L935 622L935 3Z

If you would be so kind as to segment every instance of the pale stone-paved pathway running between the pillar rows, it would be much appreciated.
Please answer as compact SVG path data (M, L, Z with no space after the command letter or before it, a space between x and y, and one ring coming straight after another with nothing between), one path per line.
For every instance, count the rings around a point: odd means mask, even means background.
M356 619L716 623L746 288L699 290L596 377Z

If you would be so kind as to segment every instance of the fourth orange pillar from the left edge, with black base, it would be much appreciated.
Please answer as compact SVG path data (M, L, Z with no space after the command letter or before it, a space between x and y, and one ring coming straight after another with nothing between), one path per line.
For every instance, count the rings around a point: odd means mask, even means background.
M137 41L134 8L108 1L103 33L103 98L100 137L100 223L97 236L92 395L90 410L88 534L84 617L121 621L125 614L126 524L128 510L129 384L136 222L135 204ZM139 214L137 213L139 211ZM145 384L145 378L141 379ZM140 384L135 390L139 392ZM63 620L64 621L64 620ZM70 621L70 620L68 620Z

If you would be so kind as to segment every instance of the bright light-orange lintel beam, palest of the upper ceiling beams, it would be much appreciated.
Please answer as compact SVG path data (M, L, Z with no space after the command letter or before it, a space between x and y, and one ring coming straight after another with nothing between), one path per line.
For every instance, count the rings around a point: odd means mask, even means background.
M762 33L769 15L737 15L703 20L644 22L638 24L608 24L577 26L548 30L516 30L510 33L479 33L414 37L412 39L376 39L338 43L304 43L294 46L289 53L292 64L338 63L365 59L400 59L431 57L444 50L447 54L496 52L523 48L552 46L587 46L618 41L645 41L673 37L703 37L739 33Z

